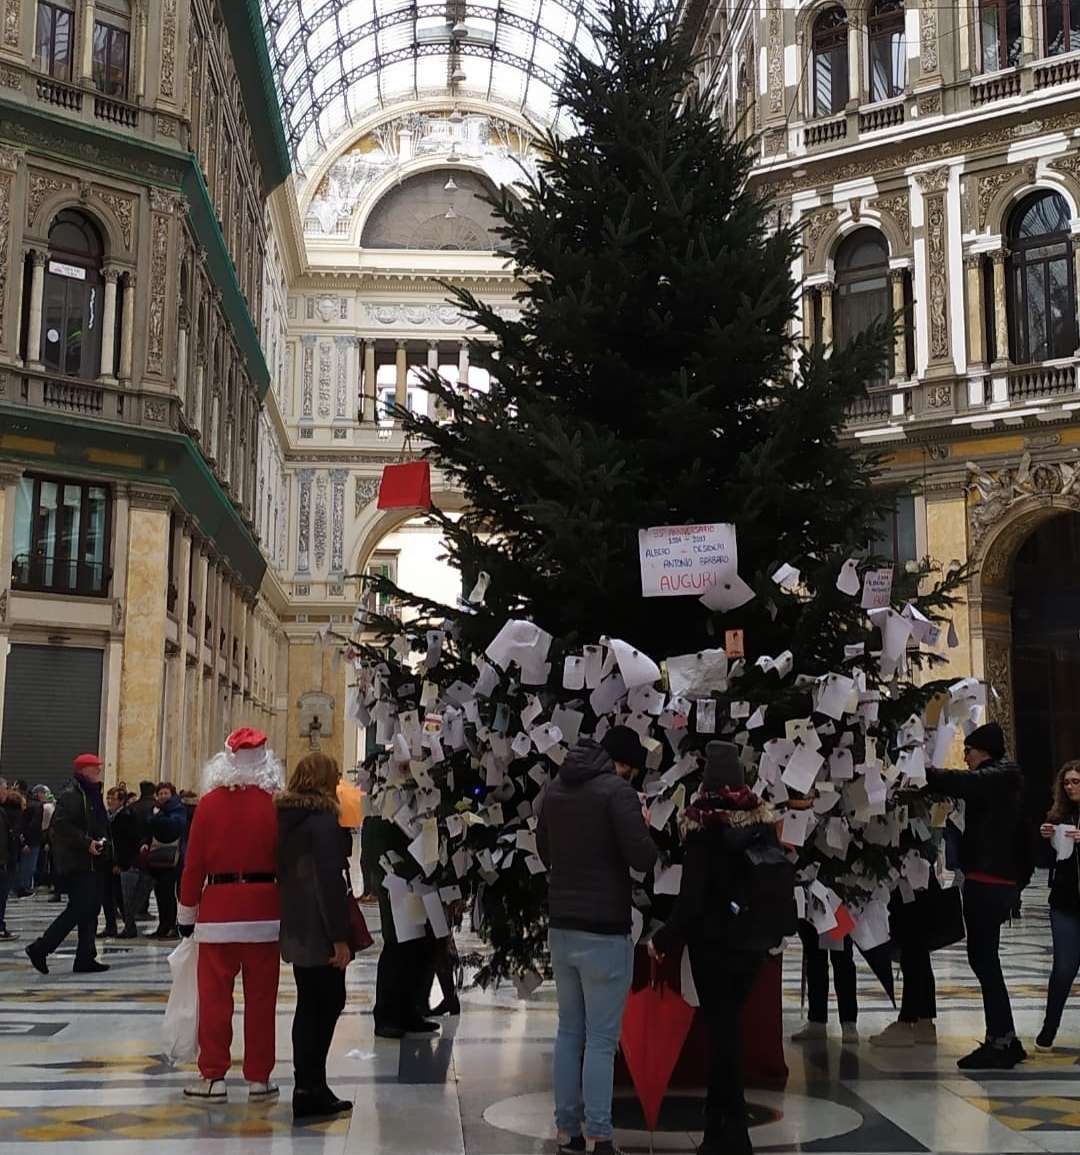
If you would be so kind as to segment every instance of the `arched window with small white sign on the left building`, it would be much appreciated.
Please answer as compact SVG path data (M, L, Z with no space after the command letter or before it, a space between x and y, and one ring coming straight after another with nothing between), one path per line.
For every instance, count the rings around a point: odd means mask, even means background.
M100 370L104 252L102 234L82 213L66 209L53 221L45 266L42 360L57 373L96 378Z

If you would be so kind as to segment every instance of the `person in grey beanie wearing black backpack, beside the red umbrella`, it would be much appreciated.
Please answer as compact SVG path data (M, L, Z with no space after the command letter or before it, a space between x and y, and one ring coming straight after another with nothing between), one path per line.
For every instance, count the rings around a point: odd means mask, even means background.
M743 1074L743 1006L770 949L795 931L795 866L779 817L746 787L738 746L710 742L701 789L679 820L683 881L649 941L655 961L690 949L708 1033L705 1137L699 1155L751 1155Z

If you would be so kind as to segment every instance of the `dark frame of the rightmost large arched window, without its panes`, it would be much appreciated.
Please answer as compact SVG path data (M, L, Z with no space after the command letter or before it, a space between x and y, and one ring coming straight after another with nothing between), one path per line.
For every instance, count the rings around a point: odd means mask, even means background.
M1053 189L1042 189L1023 198L1014 206L1010 217L1008 229L1008 260L1006 264L1006 299L1008 306L1008 351L1014 365L1040 365L1045 362L1062 360L1072 357L1078 344L1078 318L1077 318L1077 269L1075 249L1072 232L1066 228L1058 232L1045 232L1034 237L1019 237L1016 228L1027 213L1041 200L1047 198L1059 198L1066 209L1068 202L1060 193ZM1047 254L1045 249L1058 248L1055 254ZM1029 255L1030 254L1030 255ZM1037 255L1036 255L1037 254ZM1071 348L1065 351L1056 351L1052 345L1052 313L1051 313L1051 284L1050 266L1058 261L1064 261L1065 274L1068 280L1068 325L1071 335L1066 337L1066 344ZM1035 357L1031 349L1031 327L1027 273L1033 268L1043 269L1043 306L1047 320L1048 336L1045 341L1045 356Z

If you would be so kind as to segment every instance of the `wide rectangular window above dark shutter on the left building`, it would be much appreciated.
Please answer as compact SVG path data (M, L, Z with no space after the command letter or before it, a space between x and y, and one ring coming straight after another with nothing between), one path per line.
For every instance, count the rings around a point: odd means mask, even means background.
M15 589L104 597L111 500L103 485L23 477L15 491Z

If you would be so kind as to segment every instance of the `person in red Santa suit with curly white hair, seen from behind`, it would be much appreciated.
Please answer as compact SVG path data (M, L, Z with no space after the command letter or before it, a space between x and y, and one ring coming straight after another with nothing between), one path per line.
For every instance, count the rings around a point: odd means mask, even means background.
M244 1078L270 1100L277 1013L277 814L284 770L267 738L244 728L203 772L180 879L177 927L199 942L199 1072L188 1098L221 1102L232 1044L232 988L244 976Z

